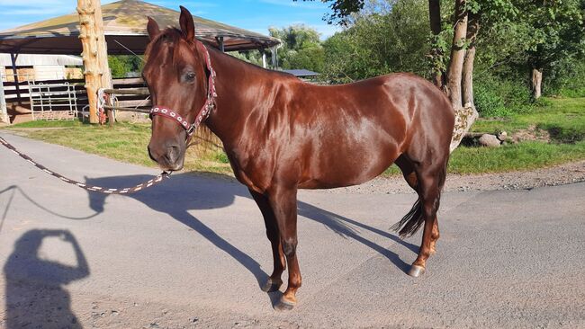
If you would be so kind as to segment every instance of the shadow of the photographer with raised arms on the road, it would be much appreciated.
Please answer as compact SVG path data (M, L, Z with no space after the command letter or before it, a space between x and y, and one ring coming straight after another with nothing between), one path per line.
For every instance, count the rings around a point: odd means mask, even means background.
M70 244L76 265L42 259L40 247L46 238ZM6 281L6 328L77 328L71 298L65 285L85 278L89 267L75 236L67 230L32 229L14 244L4 264Z

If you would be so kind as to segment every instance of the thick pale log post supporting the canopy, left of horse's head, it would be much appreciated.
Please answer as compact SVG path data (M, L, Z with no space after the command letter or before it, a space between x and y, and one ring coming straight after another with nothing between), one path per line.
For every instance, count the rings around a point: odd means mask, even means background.
M112 88L112 75L108 67L108 50L103 35L102 6L100 0L77 0L79 14L79 40L83 46L85 90L89 102L89 122L98 123L97 91ZM110 114L110 113L108 113Z

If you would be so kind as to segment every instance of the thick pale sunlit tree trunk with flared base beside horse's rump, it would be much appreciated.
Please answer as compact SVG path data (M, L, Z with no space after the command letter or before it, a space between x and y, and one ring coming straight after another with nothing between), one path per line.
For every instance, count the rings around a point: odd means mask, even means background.
M447 70L447 94L455 110L455 128L451 138L450 151L459 146L465 133L477 119L473 106L464 106L461 93L461 80L465 57L465 37L467 35L468 13L465 0L455 0L455 31L451 46L451 59Z

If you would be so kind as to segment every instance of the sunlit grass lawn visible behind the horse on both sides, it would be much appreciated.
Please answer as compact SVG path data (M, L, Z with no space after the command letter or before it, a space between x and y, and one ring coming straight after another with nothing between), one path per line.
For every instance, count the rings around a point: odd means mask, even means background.
M551 142L521 142L498 148L458 147L449 162L450 173L499 173L530 170L585 159L585 98L545 99L535 111L506 120L478 120L473 131L505 130L510 134L536 126ZM148 158L149 124L118 123L113 128L78 121L31 121L6 128L24 136L72 147L123 162L156 167ZM26 150L23 150L26 153ZM186 171L231 173L218 147L190 147ZM399 173L392 165L385 174Z

